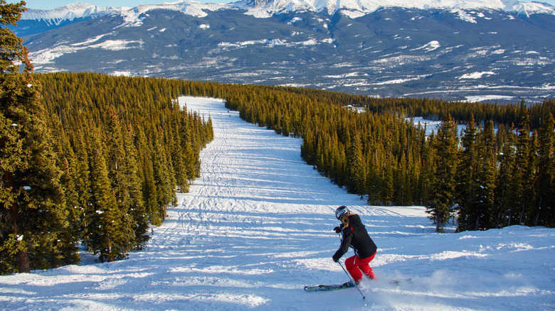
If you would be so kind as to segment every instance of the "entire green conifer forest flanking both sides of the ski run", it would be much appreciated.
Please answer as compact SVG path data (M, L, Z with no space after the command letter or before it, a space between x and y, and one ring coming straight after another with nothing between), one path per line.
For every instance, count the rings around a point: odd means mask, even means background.
M245 121L302 138L307 164L368 204L421 205L442 231L555 227L555 101L376 99L317 89L96 73L34 74L0 13L0 273L124 259L200 176L210 116L182 95L225 99ZM433 133L411 117L441 120ZM465 124L458 133L457 124Z

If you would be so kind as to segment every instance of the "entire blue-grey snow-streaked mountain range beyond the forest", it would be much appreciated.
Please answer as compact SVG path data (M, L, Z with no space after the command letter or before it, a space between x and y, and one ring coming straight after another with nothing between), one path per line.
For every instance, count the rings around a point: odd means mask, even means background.
M514 0L76 3L13 28L37 72L95 71L538 102L555 94L555 8Z

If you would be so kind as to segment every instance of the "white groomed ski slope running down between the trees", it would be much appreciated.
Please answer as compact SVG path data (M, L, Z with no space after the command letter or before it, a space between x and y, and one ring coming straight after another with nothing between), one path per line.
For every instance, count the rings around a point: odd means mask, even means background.
M319 176L300 139L247 124L219 99L180 102L209 114L216 138L148 248L1 276L0 310L554 310L554 229L436 234L423 207L367 206ZM303 290L348 280L331 259L341 204L379 247L366 300L355 288Z

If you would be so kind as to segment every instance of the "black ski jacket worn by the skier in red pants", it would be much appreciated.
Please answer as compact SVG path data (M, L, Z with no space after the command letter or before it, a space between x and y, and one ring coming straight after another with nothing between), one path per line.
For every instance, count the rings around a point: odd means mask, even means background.
M347 251L349 246L354 249L354 253L360 258L368 258L376 253L378 247L374 244L371 237L366 231L366 227L362 224L359 215L351 214L349 217L349 226L342 229L343 239L341 246L334 254L334 260L341 258Z

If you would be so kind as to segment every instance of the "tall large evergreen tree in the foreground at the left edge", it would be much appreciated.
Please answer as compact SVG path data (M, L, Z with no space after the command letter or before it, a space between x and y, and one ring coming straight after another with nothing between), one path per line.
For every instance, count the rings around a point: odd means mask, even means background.
M67 226L41 87L28 50L6 27L24 4L0 0L0 273L60 265L58 237Z

